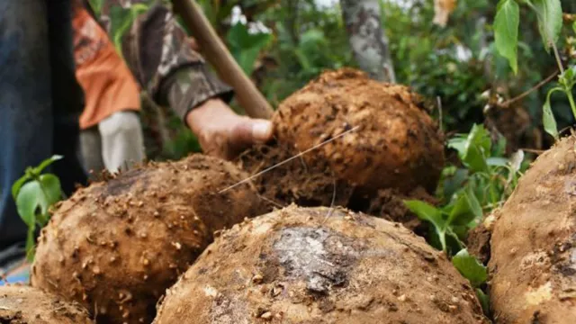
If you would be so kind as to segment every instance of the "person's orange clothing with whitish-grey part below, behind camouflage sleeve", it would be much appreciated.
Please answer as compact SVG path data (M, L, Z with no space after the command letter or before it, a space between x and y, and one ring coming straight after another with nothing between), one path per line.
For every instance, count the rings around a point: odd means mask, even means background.
M116 173L145 158L139 85L85 6L74 10L76 78L85 91L80 147L85 168Z

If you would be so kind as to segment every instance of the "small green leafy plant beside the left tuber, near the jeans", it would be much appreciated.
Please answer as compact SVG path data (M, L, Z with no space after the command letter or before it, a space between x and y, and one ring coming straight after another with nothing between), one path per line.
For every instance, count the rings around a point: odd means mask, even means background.
M34 237L37 226L44 227L49 220L49 208L59 202L64 194L58 176L42 174L44 169L61 159L53 156L42 161L39 166L26 168L24 175L12 186L12 196L18 214L28 226L26 254L29 260L34 256Z

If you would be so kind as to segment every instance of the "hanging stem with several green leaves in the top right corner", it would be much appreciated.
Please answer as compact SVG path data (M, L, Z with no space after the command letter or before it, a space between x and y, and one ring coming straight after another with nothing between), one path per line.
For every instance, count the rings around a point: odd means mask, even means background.
M538 20L538 30L544 42L545 49L553 49L556 63L561 71L558 76L558 85L554 86L546 95L543 106L543 123L545 131L558 139L558 127L554 119L554 113L550 104L550 97L554 92L560 91L566 94L572 115L576 118L576 103L572 94L572 88L576 84L576 74L574 68L564 69L562 58L556 42L560 38L563 27L562 3L560 0L500 0L494 22L496 38L496 48L500 55L509 60L510 67L514 73L518 71L517 48L518 48L518 26L519 26L519 5L526 4L534 13Z

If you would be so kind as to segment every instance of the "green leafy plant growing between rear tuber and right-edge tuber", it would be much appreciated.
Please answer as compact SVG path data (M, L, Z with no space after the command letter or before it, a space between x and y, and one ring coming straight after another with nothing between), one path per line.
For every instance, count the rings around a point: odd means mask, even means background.
M485 211L500 206L518 184L524 154L519 151L504 158L504 139L496 144L492 145L490 133L482 125L456 135L448 147L458 152L463 167L447 166L443 172L437 195L446 204L434 207L426 202L405 202L421 220L432 224L429 242L449 256L464 248L462 240L468 230L477 226Z

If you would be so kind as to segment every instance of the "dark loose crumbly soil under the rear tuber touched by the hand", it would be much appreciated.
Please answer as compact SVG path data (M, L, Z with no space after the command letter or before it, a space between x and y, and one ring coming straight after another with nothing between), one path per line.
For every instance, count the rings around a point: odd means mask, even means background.
M293 157L290 152L293 152L292 148L279 143L257 146L239 157L239 166L257 174ZM365 193L346 180L338 179L328 161L320 159L309 164L295 158L255 177L253 181L260 195L266 197L270 210L284 208L291 203L301 207L344 206L385 220L401 222L419 234L426 231L426 225L403 201L418 199L437 202L421 186L410 193L401 193L394 188Z

